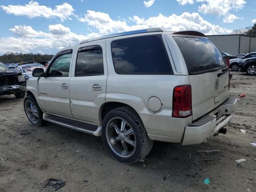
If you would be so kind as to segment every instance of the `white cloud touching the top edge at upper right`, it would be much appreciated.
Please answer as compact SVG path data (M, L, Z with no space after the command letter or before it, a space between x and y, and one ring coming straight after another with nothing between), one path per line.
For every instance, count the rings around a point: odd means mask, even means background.
M224 16L224 22L234 22L239 17L230 14L231 10L238 11L246 4L245 0L176 0L180 5L202 3L198 11L204 14L214 14L217 17Z

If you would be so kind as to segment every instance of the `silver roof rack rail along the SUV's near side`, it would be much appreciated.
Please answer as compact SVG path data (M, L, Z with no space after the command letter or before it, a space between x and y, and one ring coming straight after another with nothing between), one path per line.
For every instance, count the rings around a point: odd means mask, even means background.
M80 42L80 44L90 42L90 41L96 41L100 39L111 38L111 37L118 37L118 36L125 36L125 35L139 34L139 33L148 33L148 32L163 32L163 30L160 28L148 28L148 29L142 29L142 30L134 30L134 31L122 32L122 33L110 34L102 37L83 40Z

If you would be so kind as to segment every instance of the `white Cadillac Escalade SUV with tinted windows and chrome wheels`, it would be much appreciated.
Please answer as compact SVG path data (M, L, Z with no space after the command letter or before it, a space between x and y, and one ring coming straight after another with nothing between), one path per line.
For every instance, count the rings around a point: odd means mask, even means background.
M190 145L225 134L237 107L226 61L195 31L150 28L84 40L33 76L24 99L32 124L102 136L125 164L145 158L153 140Z

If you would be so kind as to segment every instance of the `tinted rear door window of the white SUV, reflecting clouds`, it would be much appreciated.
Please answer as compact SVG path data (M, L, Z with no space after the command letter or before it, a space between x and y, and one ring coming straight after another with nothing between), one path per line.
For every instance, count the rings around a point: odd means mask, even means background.
M103 55L99 46L80 48L76 59L75 76L103 75Z

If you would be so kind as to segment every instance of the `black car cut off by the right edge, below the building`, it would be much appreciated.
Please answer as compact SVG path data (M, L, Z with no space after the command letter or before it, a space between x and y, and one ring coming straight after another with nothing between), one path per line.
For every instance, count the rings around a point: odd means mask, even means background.
M248 75L256 75L256 57L241 60L239 71L246 72Z

